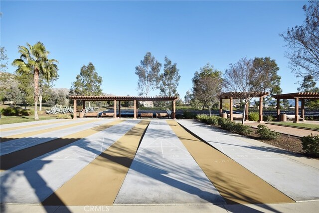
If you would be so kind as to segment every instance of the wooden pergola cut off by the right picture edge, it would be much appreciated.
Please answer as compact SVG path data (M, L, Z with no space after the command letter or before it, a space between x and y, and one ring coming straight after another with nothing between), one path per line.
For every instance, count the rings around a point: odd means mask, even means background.
M299 122L299 101L301 100L301 118L305 120L305 100L319 100L318 92L295 92L295 93L286 93L280 95L272 95L273 98L277 99L277 121L280 120L280 100L295 100L295 121L294 123Z

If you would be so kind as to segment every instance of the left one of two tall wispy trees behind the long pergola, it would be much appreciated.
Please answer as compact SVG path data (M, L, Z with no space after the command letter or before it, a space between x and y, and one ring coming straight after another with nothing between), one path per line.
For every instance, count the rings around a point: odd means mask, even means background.
M141 65L135 67L135 74L139 76L138 88L140 95L148 95L158 87L161 64L151 52L147 52Z

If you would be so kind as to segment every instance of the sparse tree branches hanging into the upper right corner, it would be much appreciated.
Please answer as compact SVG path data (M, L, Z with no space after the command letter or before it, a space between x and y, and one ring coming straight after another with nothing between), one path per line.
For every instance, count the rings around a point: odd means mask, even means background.
M319 1L310 1L304 5L306 20L301 26L288 28L286 34L280 34L291 50L286 52L292 71L297 77L312 75L319 79Z

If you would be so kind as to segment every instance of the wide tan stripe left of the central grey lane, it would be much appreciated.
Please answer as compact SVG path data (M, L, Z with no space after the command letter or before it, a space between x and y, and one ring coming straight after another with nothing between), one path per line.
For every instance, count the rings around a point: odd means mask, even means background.
M42 202L48 206L112 205L149 124L141 121Z

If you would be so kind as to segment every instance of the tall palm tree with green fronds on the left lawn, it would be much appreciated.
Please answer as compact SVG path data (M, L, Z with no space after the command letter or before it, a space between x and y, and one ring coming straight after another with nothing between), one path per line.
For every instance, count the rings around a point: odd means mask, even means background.
M16 66L16 72L19 74L26 73L33 75L33 87L34 87L34 120L38 120L37 103L38 103L38 85L39 75L44 76L46 80L49 80L57 76L58 63L55 59L48 59L49 51L45 49L43 43L38 41L31 46L26 43L25 46L18 46L18 52L21 54L20 58L14 59L12 66Z

